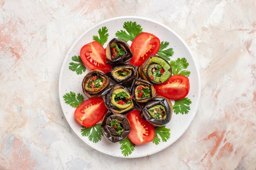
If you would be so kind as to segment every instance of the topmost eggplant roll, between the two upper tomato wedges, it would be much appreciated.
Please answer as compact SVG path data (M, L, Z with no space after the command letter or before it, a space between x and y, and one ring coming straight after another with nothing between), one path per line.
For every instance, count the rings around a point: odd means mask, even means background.
M127 42L113 38L106 48L108 64L121 64L132 59L132 51Z

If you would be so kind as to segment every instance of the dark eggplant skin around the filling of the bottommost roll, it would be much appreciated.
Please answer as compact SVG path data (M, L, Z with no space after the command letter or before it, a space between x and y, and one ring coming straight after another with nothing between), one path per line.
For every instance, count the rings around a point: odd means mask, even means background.
M124 131L118 135L117 132L111 127L110 121L112 119L117 119L122 121L122 126L124 127ZM102 119L101 123L101 130L103 135L110 140L111 142L115 143L121 140L124 140L131 131L130 123L128 119L124 115L120 114L113 114L110 110L106 113L106 115Z

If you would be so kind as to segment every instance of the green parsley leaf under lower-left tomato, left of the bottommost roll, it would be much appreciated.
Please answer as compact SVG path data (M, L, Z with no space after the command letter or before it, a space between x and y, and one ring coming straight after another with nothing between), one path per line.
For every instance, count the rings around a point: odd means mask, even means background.
M103 136L103 132L101 130L101 124L96 124L90 128L86 128L85 126L82 126L83 129L81 129L82 136L88 137L89 141L92 141L93 143L97 143L101 140L101 137Z

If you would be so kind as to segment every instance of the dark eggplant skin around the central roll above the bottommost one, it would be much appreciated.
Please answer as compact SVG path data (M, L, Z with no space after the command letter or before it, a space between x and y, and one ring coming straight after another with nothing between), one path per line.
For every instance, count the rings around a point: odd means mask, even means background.
M130 93L130 91L128 90L128 88L121 86L120 84L116 84L115 86L109 88L108 90L104 91L101 96L102 99L105 103L105 106L112 111L112 113L117 114L115 111L119 110L119 108L117 108L117 106L115 106L114 104L111 103L111 98L112 98L112 93L115 89L117 88L124 88L128 93ZM122 115L126 115L127 113L129 113L130 111L132 111L135 107L136 104L134 102L134 100L132 99L132 103L133 103L133 107L130 108L129 110L126 110L123 113L118 113L118 114L122 114Z

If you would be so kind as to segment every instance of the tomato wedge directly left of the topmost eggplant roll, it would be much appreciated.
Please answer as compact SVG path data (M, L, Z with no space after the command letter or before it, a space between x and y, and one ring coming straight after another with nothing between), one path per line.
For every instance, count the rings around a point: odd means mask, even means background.
M104 47L97 41L85 44L80 51L80 57L83 64L91 70L101 70L108 73L111 70L111 65L107 64L106 51Z

